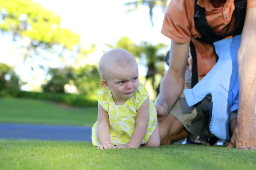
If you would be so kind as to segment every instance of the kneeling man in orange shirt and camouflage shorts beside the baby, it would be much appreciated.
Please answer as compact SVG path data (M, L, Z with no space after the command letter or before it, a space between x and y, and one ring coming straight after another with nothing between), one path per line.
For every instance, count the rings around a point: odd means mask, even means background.
M232 37L236 31L234 0L198 0L197 4L204 8L207 23L215 34ZM202 36L195 27L195 14L194 0L172 0L163 21L162 33L172 40L172 44L169 70L161 82L160 94L155 102L161 144L172 144L186 138L188 134L193 140L207 122L204 108L208 108L211 96L207 96L197 107L189 107L183 96L180 96L184 88L190 42L195 46L199 77L204 77L216 63L214 46L198 40ZM256 149L255 30L256 0L247 0L241 44L237 53L239 106L238 111L229 114L230 133L233 133L229 147L236 146L239 149Z

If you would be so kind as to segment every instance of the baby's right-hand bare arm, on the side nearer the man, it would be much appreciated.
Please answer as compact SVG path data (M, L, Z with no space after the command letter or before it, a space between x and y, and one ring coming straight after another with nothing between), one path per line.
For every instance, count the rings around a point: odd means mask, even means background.
M136 127L134 134L131 137L130 142L128 143L129 147L138 148L142 143L148 127L149 121L149 99L146 99L145 102L140 106L140 109L137 111L136 116Z

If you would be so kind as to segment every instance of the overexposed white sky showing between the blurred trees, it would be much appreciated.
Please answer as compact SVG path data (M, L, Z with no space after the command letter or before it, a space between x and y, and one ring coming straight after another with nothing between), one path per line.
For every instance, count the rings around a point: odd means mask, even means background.
M149 18L149 8L139 6L135 11L125 13L128 10L124 3L131 0L33 0L44 8L55 11L61 17L61 26L68 28L81 37L81 45L87 46L96 43L96 51L85 60L87 63L95 63L102 56L102 51L108 48L105 44L115 44L120 37L128 36L135 43L148 41L153 44L165 43L170 45L169 38L161 34L164 13L162 8L153 9L152 28ZM132 0L134 1L134 0ZM8 36L1 36L0 62L10 65L20 65L17 60L18 51ZM39 57L38 57L39 58ZM42 62L35 59L34 63ZM67 61L68 62L68 61ZM70 64L73 60L70 59ZM52 61L44 63L50 67L58 67L58 59L52 57ZM140 76L144 76L145 68L140 66ZM29 76L30 65L24 63L16 69L22 79L39 86L45 78L44 71L35 68L35 79ZM29 90L29 85L23 87Z

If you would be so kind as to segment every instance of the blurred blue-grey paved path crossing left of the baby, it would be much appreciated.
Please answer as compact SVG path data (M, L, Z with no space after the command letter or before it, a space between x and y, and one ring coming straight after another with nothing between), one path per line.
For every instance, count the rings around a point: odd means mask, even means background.
M0 123L0 138L91 141L91 127Z

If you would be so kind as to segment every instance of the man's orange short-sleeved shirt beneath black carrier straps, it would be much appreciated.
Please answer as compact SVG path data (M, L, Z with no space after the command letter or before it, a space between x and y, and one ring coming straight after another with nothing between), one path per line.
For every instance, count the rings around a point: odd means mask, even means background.
M198 5L205 8L206 20L218 35L227 35L234 29L234 0L227 0L223 6L214 8L209 0L198 0ZM256 0L247 0L246 8L256 7ZM161 33L175 42L192 41L196 48L198 76L204 77L215 65L213 46L195 38L201 37L194 22L195 0L171 0L163 20ZM230 23L231 21L231 23ZM229 26L227 26L230 23ZM227 27L226 27L227 26ZM195 38L194 38L195 37Z

